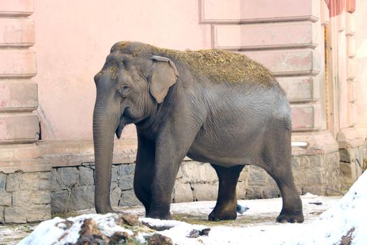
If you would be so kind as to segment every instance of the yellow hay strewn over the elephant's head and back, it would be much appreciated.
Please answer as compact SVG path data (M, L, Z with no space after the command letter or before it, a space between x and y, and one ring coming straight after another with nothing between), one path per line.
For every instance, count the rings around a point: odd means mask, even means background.
M245 55L226 50L169 50L144 43L120 42L112 50L122 50L134 56L161 55L184 63L196 76L216 82L277 83L268 69Z

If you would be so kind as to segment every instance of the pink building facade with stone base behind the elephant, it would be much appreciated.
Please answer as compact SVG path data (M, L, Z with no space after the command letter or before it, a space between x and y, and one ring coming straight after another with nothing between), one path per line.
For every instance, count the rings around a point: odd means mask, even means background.
M292 107L300 194L332 195L366 164L367 3L363 0L0 3L0 223L93 207L93 76L113 43L241 52L270 69ZM134 205L134 126L115 141L111 202ZM208 164L185 159L173 202L215 200ZM277 197L246 167L238 198Z

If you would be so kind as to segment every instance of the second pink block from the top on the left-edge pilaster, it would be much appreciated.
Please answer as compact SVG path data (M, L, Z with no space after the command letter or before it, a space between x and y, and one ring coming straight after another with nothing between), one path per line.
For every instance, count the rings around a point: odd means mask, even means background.
M0 19L0 47L34 45L34 21L27 18Z

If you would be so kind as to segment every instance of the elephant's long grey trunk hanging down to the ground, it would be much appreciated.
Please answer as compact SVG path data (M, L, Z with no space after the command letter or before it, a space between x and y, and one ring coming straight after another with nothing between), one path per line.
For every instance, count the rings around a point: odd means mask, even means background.
M94 205L98 214L113 212L110 204L110 182L113 159L113 139L117 128L116 116L108 115L106 107L94 107ZM115 123L116 122L116 123Z

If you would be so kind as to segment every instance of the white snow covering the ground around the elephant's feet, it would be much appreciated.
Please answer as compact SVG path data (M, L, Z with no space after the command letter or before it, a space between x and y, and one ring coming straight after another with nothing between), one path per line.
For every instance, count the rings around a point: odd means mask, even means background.
M341 200L340 197L303 195L301 198L305 222L302 224L275 223L275 218L282 206L280 198L238 201L239 204L250 209L244 214L238 215L236 221L207 221L208 214L215 206L215 202L172 204L171 213L175 221L160 221L150 218L140 218L139 220L150 225L172 227L158 233L171 237L174 244L339 244L342 237L349 232L352 244L364 245L367 244L366 186L367 174L364 173ZM326 209L328 210L325 211ZM144 214L142 208L124 209L124 211L139 216ZM112 234L120 229L111 221L112 216L113 214L105 216L85 214L68 218L68 220L80 223L82 219L93 218L103 232ZM41 244L40 241L43 244L52 244L60 237L60 231L57 229L62 228L61 221L64 219L54 218L41 223L20 244ZM110 228L113 230L109 230ZM210 228L208 236L187 237L192 230L203 230L204 228ZM73 229L74 231L69 230L68 235L77 237L80 227L75 225ZM40 240L35 240L36 237Z

